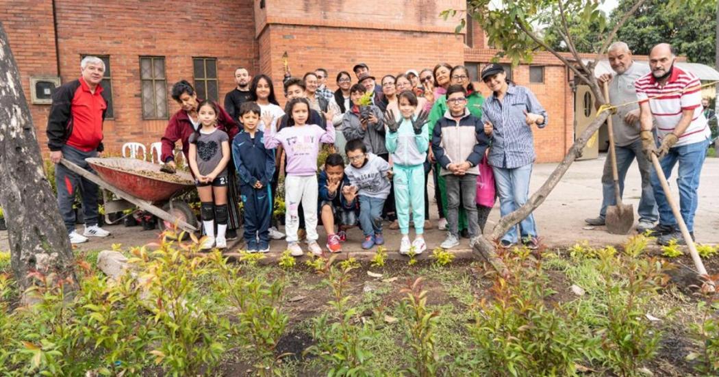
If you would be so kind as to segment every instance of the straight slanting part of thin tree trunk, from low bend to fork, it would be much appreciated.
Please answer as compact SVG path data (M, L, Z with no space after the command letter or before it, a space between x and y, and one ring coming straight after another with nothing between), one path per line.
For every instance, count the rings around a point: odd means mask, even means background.
M582 132L579 139L574 141L572 147L569 148L569 152L567 152L567 155L564 156L562 162L557 165L554 172L551 172L549 178L547 178L546 182L544 182L544 185L533 193L527 203L524 203L524 205L515 210L513 213L500 218L499 222L495 225L492 231L492 236L490 237L491 239L498 239L504 236L510 228L525 219L530 213L532 213L533 210L539 207L541 203L544 203L544 200L547 196L549 196L549 193L551 193L551 191L554 190L554 187L557 186L557 183L562 180L564 173L567 172L567 169L569 169L569 166L572 165L572 162L574 162L577 157L582 155L582 149L584 149L587 145L587 141L589 141L592 135L600 128L600 126L602 126L602 124L604 124L605 120L609 116L609 113L609 111L603 111L594 119L594 121L592 121L592 123L590 123L589 126L587 126L587 129Z

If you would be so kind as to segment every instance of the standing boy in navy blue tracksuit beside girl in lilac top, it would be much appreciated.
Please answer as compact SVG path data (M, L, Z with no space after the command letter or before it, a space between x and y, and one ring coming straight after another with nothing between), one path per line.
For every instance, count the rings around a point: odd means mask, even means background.
M232 158L239 175L239 192L244 205L244 241L247 252L270 251L270 219L275 173L275 152L265 149L264 134L257 130L260 106L245 102L239 107L239 120L244 129L232 140Z

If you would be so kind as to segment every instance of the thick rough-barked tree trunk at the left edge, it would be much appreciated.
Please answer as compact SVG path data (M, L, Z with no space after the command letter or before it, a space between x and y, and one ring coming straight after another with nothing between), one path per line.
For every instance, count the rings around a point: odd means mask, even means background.
M0 22L0 206L9 232L11 266L21 289L28 274L56 274L76 287L73 251L52 194L15 59Z

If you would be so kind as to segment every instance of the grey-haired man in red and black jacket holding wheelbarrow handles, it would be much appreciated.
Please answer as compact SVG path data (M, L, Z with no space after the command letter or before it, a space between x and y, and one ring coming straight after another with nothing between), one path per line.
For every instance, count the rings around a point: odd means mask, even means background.
M88 236L106 237L110 233L98 225L97 185L58 164L63 157L83 169L93 172L85 159L98 157L102 152L102 123L107 110L100 82L105 63L99 57L88 56L80 63L81 77L61 85L52 95L52 107L47 119L47 146L50 161L55 164L55 185L58 206L71 243L88 241ZM75 192L82 193L85 231L75 231Z

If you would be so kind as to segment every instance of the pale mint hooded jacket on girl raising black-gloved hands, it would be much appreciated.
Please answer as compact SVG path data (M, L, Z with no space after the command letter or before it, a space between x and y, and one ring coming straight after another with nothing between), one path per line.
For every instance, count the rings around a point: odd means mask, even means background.
M429 148L428 124L422 126L421 134L415 134L411 121L401 117L400 122L397 132L387 132L386 146L392 154L392 161L403 166L424 164Z

